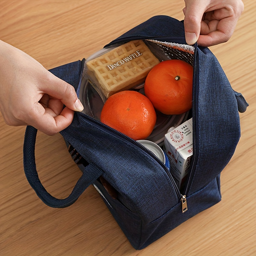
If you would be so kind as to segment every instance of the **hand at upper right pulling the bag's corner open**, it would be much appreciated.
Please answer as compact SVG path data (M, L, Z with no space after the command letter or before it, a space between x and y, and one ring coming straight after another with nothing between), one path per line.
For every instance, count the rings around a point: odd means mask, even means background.
M184 0L188 44L211 46L227 42L244 10L242 0Z

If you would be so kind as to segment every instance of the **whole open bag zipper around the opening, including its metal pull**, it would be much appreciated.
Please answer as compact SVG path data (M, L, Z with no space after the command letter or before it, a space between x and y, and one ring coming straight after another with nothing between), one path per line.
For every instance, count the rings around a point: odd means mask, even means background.
M145 37L142 37L142 36L136 37L136 36L133 36L133 37L121 38L119 40L114 40L111 43L105 45L104 48L108 48L109 46L111 46L113 44L120 44L120 43L124 43L124 42L131 41L131 40L155 39L155 38L183 39L185 37L184 36L175 36L175 37L172 37L172 36L155 36L155 37L147 37L147 36L145 36ZM196 53L197 53L197 44L195 44L194 67L197 66ZM193 73L193 99L196 99L196 96L197 96L197 89L196 89L196 80L197 79L196 78L197 78L197 72L196 72L196 68L194 68L194 73ZM143 146L140 142L138 142L136 140L133 140L132 138L126 136L122 132L119 132L119 131L109 127L108 125L101 123L100 121L92 118L91 116L85 115L84 113L80 113L80 112L78 112L78 114L84 116L89 121L91 121L91 122L93 122L95 124L100 125L101 127L105 128L109 132L112 132L112 133L120 136L121 138L129 141L130 143L134 144L135 146L139 147L141 150L146 152L149 156L151 156L158 164L160 164L160 166L164 169L164 171L166 172L167 176L169 177L169 180L172 183L172 186L173 186L173 188L174 188L174 190L176 192L176 195L178 196L178 198L179 198L179 200L181 202L182 213L184 213L184 212L186 212L188 210L186 194L188 193L189 185L190 185L190 182L191 182L192 170L194 172L194 169L195 169L195 162L196 162L196 157L195 157L196 156L196 136L193 135L193 152L194 152L193 156L192 156L193 157L193 162L192 162L192 165L191 165L191 168L190 168L189 177L188 177L188 180L187 180L185 192L184 192L184 195L182 195L180 193L180 190L179 190L177 184L175 183L175 181L174 181L174 179L172 177L171 172L168 170L167 166L152 151L150 151L148 148ZM193 123L192 130L193 130L193 134L195 134L195 132L196 132L196 125L195 125L196 122L194 122L195 118L196 118L196 107L195 107L195 103L193 103L192 104L192 123Z

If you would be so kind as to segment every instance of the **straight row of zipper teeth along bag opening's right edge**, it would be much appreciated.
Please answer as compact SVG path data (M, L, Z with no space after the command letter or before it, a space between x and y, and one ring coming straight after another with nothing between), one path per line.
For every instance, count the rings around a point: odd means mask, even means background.
M195 169L195 163L196 163L196 95L197 95L197 89L196 89L196 80L197 80L197 43L195 44L195 52L194 52L194 73L193 73L193 95L192 95L192 99L193 99L193 106L192 106L192 134L193 134L193 160L192 160L192 164L190 167L190 172L189 172L189 176L188 176L188 180L187 180L187 184L186 184L186 188L184 191L184 195L187 195L188 193L188 189L189 189L189 185L191 182L191 178L192 178L192 173L194 172Z

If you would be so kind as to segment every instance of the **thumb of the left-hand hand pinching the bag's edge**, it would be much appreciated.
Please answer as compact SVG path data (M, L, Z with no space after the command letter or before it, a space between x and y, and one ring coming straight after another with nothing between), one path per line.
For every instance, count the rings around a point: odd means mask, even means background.
M44 83L44 85L42 85L42 87L39 89L44 93L60 100L69 109L81 112L84 107L77 98L75 88L57 76L54 76L51 72L49 73L50 81L48 83Z

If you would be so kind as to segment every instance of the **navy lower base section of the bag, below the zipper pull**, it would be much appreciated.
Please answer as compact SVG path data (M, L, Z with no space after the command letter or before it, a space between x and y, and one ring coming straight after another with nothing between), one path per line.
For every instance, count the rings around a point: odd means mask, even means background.
M131 212L120 202L111 198L105 188L98 181L95 182L95 185L100 189L100 192L105 197L102 197L103 201L129 242L135 249L140 250L147 247L149 244L152 244L172 229L178 227L181 223L195 216L197 213L202 212L220 202L221 195L219 182L220 177L218 176L205 188L197 191L191 196L188 196L187 202L189 210L187 212L182 213L181 205L176 204L168 212L150 223L143 223L140 220L139 215Z

